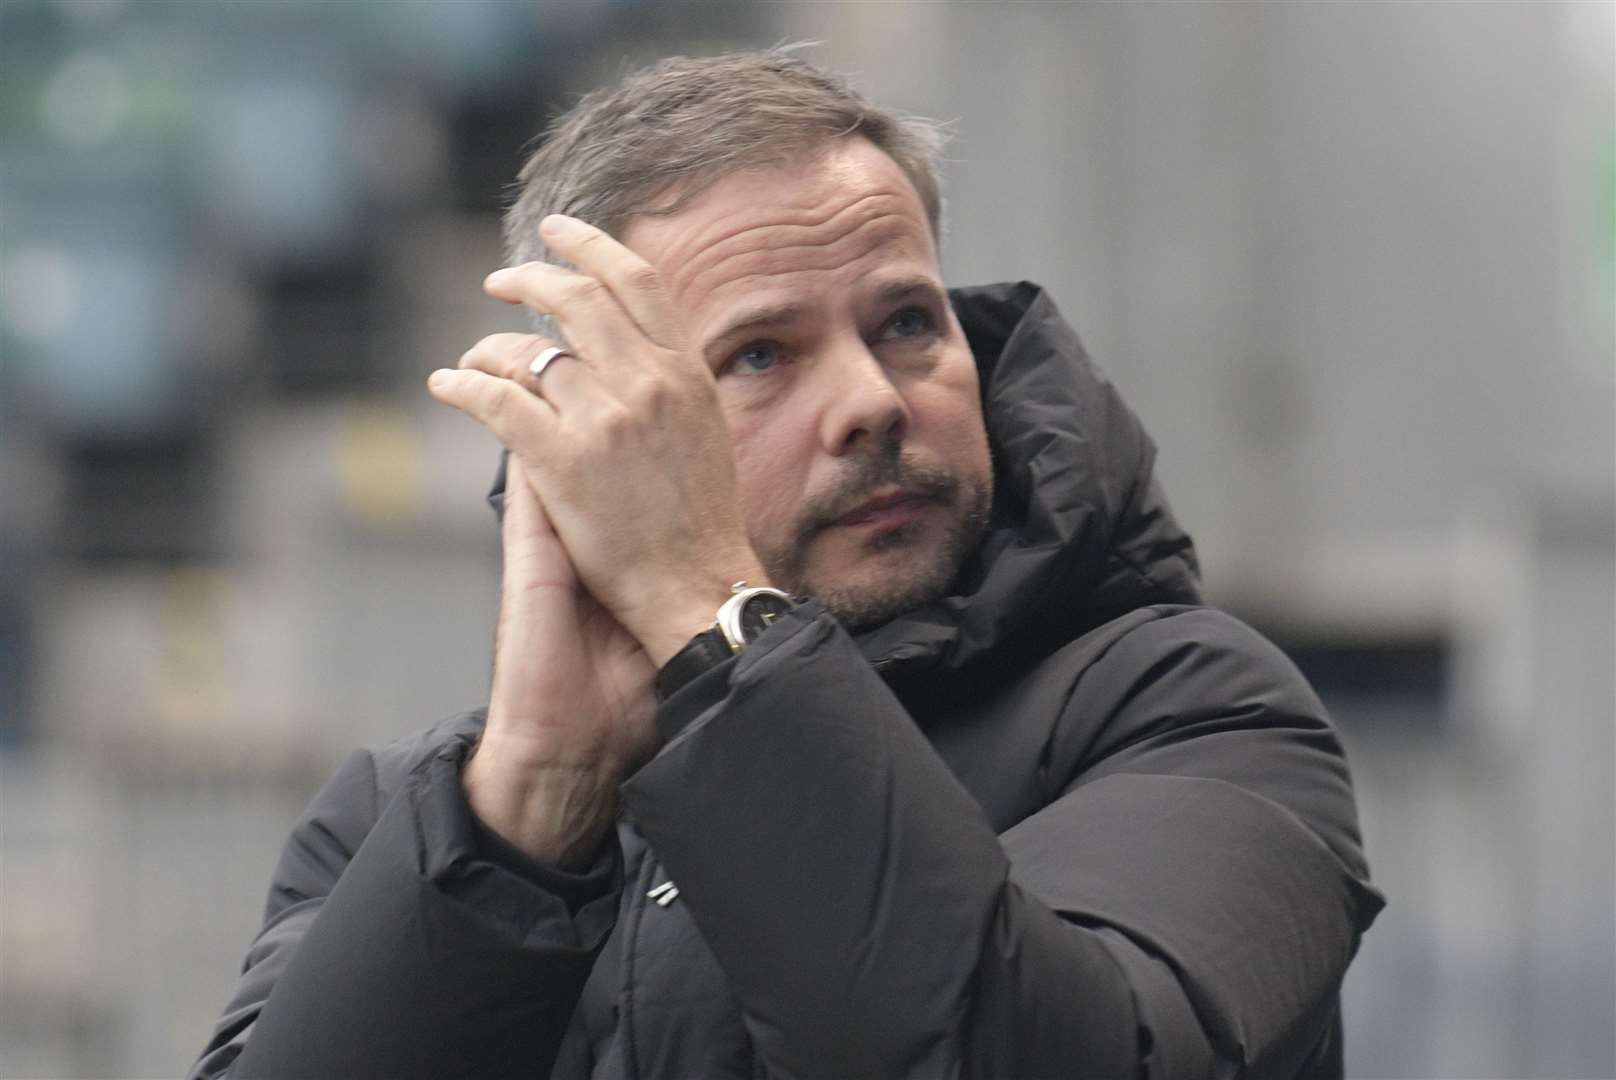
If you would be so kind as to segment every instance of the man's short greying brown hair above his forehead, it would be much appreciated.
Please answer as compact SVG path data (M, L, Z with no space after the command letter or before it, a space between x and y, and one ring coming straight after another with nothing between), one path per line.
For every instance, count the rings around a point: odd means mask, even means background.
M871 105L792 49L671 57L583 95L522 167L504 215L506 254L559 264L538 236L549 213L621 238L635 217L672 213L729 173L847 136L868 139L903 170L941 244L944 126Z

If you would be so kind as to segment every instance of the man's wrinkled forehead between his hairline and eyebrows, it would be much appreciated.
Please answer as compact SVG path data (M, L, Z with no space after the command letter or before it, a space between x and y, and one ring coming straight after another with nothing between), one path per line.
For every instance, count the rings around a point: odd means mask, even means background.
M635 218L622 239L663 275L696 340L735 304L937 276L920 196L865 139L726 176L675 213Z

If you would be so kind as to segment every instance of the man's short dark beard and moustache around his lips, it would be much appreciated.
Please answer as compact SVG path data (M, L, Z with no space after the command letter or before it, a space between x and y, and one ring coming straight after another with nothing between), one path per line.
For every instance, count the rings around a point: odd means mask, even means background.
M876 584L858 585L835 580L834 572L816 574L808 566L813 540L877 490L894 485L953 511L942 542L932 551L916 551L921 558L905 561ZM991 470L979 479L962 479L905 454L900 443L882 443L850 459L835 483L803 506L789 542L774 551L760 550L760 556L774 582L795 595L819 600L848 631L865 631L949 593L987 529L992 498ZM926 522L910 521L866 538L863 550L874 555L911 548L926 532Z

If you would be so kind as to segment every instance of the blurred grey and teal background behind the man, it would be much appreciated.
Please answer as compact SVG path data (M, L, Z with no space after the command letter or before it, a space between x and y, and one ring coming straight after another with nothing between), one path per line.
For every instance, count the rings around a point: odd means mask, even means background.
M423 377L522 149L816 39L957 121L1212 597L1349 744L1354 1077L1616 1077L1610 3L0 0L0 1077L183 1072L294 816L482 703L496 451Z

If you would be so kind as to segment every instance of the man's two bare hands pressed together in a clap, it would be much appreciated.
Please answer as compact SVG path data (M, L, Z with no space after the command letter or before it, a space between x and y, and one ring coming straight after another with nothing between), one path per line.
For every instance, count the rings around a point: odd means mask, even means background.
M483 288L554 317L574 356L535 378L528 364L554 343L491 335L428 386L511 451L494 679L467 795L512 842L569 863L654 750L656 668L732 582L764 574L713 373L661 278L583 221L541 228L577 270L532 262Z

